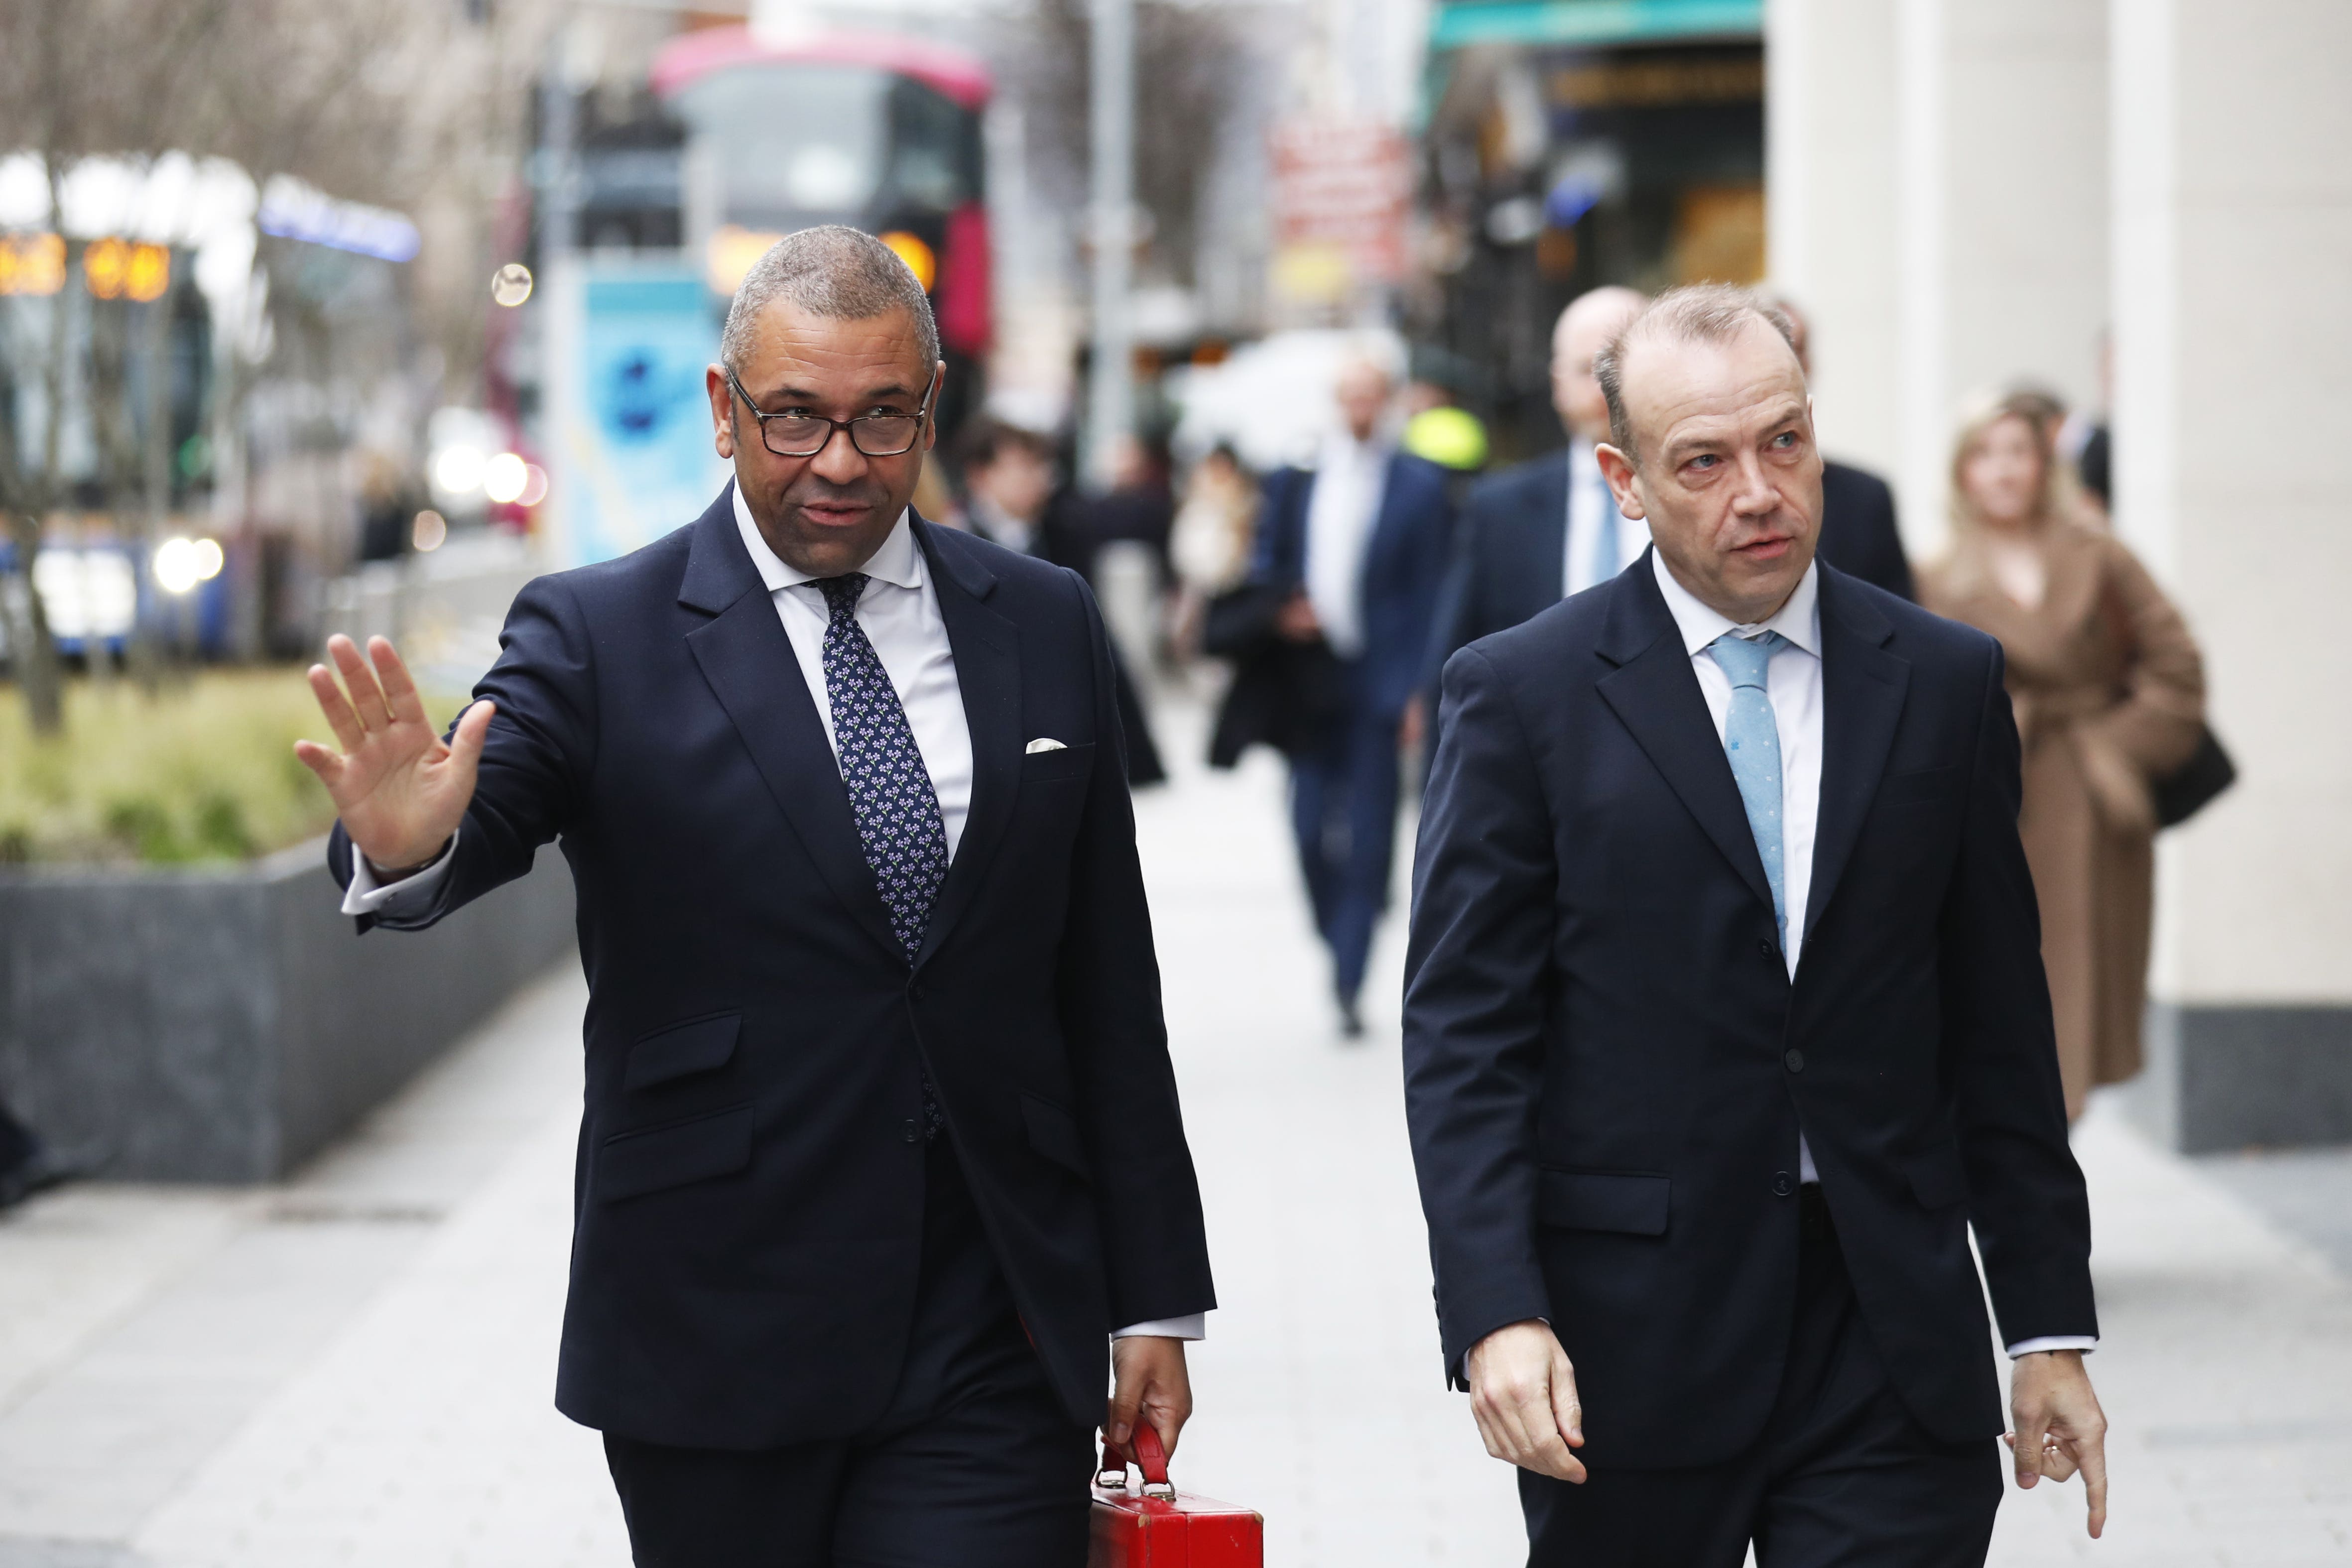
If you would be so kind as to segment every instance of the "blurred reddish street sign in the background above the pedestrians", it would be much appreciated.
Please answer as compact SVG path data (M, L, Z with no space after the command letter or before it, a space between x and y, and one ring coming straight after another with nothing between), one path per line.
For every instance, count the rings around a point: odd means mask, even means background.
M1284 120L1275 153L1275 287L1301 303L1338 303L1406 268L1414 162L1404 136L1374 120Z

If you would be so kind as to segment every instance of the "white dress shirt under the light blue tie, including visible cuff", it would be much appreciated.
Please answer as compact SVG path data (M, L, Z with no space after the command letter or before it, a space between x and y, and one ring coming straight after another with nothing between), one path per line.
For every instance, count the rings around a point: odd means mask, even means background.
M1780 943L1788 959L1788 978L1797 978L1797 959L1804 952L1804 910L1813 893L1813 837L1820 825L1820 564L1804 569L1797 590L1788 595L1769 621L1738 625L1722 611L1708 609L1689 588L1665 569L1663 555L1649 557L1658 574L1658 592L1675 616L1682 646L1691 656L1691 672L1698 677L1698 693L1708 698L1708 717L1715 719L1715 741L1724 738L1724 722L1731 715L1731 677L1708 654L1708 644L1731 632L1736 637L1762 637L1780 632L1788 646L1776 649L1764 670L1764 696L1771 698L1773 729L1780 731L1780 898L1788 905L1788 938ZM1797 1180L1818 1182L1813 1147L1797 1133ZM2018 1340L2011 1356L2037 1349L2091 1349L2098 1340L2058 1335L2046 1340Z

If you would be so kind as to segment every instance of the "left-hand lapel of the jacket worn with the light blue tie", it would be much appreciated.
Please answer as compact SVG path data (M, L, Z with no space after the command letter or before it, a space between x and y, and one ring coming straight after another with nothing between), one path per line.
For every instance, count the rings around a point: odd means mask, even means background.
M1771 884L1764 882L1764 858L1748 827L1748 806L1731 778L1724 743L1708 717L1708 698L1698 691L1691 656L1665 609L1649 555L1639 571L1609 583L1609 621L1602 628L1602 658L1616 665L1597 686L1635 743L1665 773L1684 809L1715 839L1724 858L1766 910Z

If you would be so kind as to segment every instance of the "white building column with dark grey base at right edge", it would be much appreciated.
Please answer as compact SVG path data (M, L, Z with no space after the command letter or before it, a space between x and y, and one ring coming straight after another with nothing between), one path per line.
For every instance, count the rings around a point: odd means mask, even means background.
M2114 0L2117 527L2239 785L2161 842L2143 1110L2352 1138L2352 54L2343 0Z

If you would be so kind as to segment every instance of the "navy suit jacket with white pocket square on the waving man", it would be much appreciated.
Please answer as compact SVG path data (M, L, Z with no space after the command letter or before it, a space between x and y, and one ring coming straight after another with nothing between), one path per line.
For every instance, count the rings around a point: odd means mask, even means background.
M1101 1420L1112 1328L1214 1305L1101 616L1061 567L913 529L974 755L913 964L729 494L524 588L475 689L480 785L407 924L548 839L572 863L588 1088L555 1403L583 1425L771 1448L882 1415L924 1070L1073 1422Z

